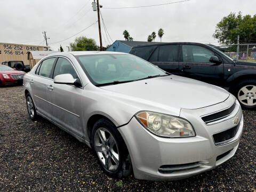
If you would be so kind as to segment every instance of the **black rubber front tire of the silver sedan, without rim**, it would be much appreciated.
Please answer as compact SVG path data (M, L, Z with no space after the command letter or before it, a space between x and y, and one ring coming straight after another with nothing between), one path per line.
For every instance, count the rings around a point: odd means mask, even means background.
M95 146L94 146L94 135L96 131L99 128L105 128L107 129L112 136L114 137L117 147L118 147L118 152L119 152L119 165L116 171L109 171L104 167L102 162L100 161L100 157L97 155L97 152L95 151ZM127 150L127 147L125 145L125 142L121 136L121 134L118 132L116 126L108 121L107 119L99 119L94 125L92 129L92 148L94 149L94 153L97 156L98 162L101 166L101 169L110 177L114 177L117 179L121 179L122 177L128 177L132 173L132 163L131 163L131 158L129 155L129 152Z

